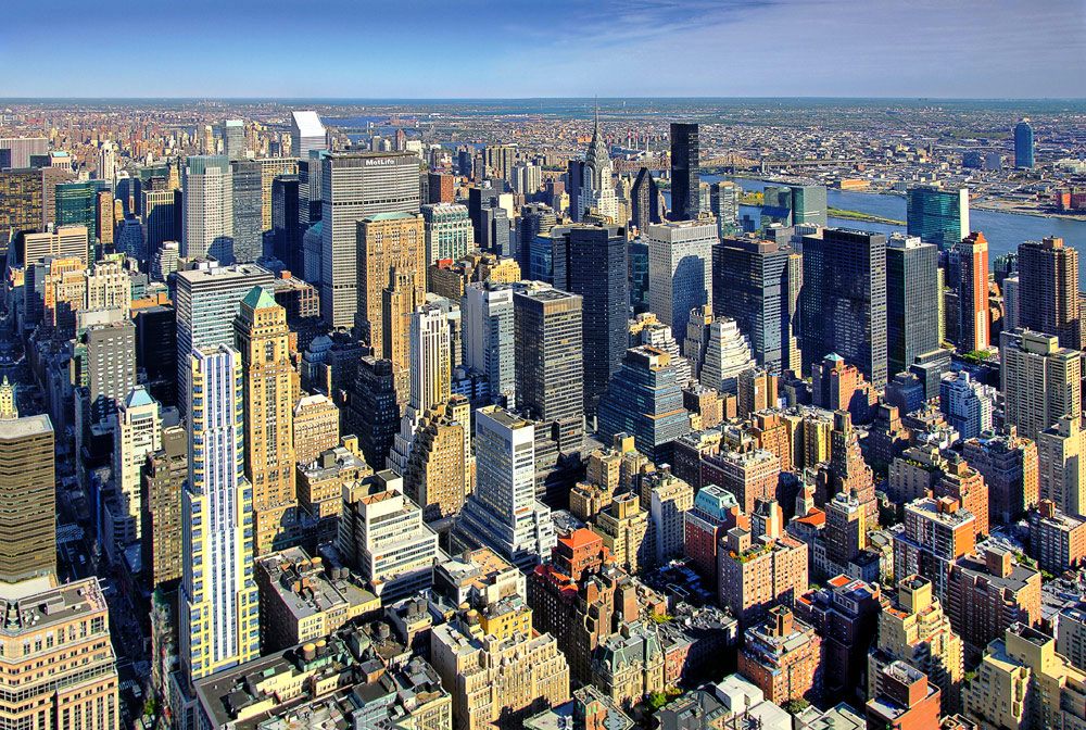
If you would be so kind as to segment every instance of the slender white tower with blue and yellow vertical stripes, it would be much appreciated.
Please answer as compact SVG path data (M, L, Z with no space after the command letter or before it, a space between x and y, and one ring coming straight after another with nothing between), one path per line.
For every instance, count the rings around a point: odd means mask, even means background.
M181 663L191 680L260 655L252 487L244 476L241 354L229 345L186 361L189 478L181 494Z

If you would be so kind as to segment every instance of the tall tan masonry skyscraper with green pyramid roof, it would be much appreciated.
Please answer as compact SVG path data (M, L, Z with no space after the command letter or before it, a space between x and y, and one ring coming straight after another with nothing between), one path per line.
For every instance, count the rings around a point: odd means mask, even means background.
M276 550L295 524L293 406L287 311L254 286L233 320L244 378L245 478L252 484L254 557Z

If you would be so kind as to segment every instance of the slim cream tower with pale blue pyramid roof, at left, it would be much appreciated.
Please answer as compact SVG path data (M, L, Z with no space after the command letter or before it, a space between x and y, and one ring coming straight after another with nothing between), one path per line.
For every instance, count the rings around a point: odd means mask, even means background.
M114 529L114 542L130 544L140 539L140 468L147 455L162 446L162 406L142 387L135 388L117 406L113 421L113 479L124 523L123 539ZM118 525L114 520L114 525Z

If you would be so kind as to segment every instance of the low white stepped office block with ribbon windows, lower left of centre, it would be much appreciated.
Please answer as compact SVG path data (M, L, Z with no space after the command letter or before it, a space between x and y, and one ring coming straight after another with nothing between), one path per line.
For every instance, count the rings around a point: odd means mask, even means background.
M426 590L433 582L438 533L422 511L404 496L392 471L343 487L340 553L358 567L384 605Z

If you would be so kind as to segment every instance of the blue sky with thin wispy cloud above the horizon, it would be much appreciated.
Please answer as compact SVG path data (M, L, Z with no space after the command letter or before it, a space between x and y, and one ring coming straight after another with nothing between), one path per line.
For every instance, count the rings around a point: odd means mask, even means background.
M0 98L1086 97L1086 0L0 4Z

